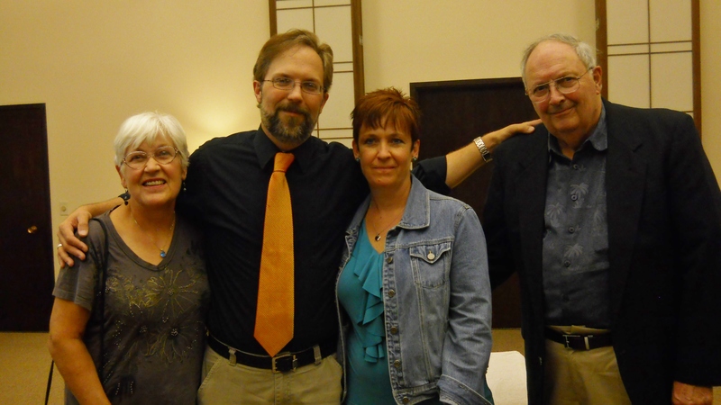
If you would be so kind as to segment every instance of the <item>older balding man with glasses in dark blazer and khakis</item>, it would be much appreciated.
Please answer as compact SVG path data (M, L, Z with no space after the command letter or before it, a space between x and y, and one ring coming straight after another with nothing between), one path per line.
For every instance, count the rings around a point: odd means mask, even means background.
M601 97L594 50L526 49L543 121L497 148L491 283L520 275L529 404L711 404L721 193L688 114Z

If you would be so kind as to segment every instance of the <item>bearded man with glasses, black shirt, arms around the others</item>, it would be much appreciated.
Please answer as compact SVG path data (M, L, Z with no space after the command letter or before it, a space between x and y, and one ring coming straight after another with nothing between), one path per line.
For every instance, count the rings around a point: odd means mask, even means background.
M198 402L338 403L342 369L333 356L338 336L333 291L344 231L368 195L368 184L351 149L311 137L333 80L328 45L308 31L276 35L260 50L253 79L260 129L212 139L198 148L190 157L187 191L178 198L178 212L204 229L212 291ZM533 127L511 125L476 142L494 148L521 130ZM446 184L460 183L483 164L476 142L447 158L422 162L415 175L447 192ZM287 277L295 284L291 293L275 298L293 296L292 338L270 347L256 338L256 315L262 308L259 283L269 178L276 156L287 155L283 152L293 155L286 170L292 204L287 238L293 245L279 256L292 253ZM68 253L84 257L72 247L83 246L72 228L78 225L82 234L91 213L106 211L118 201L106 203L81 207L63 222L59 238ZM71 264L59 250L61 260Z

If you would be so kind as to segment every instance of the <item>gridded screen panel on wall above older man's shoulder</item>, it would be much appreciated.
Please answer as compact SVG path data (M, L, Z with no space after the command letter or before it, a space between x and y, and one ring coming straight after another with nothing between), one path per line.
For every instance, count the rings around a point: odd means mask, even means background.
M698 0L599 0L597 16L608 100L688 112L700 129Z

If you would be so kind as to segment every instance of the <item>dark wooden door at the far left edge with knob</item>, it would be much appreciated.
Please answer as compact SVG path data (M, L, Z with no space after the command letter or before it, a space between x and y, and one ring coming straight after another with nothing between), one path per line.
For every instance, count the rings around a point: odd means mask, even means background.
M54 284L45 104L0 106L0 331L47 331Z

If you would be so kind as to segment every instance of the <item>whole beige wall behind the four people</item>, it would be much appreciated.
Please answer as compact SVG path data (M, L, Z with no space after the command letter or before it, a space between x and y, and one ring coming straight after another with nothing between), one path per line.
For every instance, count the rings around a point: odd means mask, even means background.
M362 6L367 90L519 76L525 46L552 31L595 43L593 0ZM701 0L704 144L721 176L719 20L721 5ZM132 113L174 114L191 150L257 128L252 66L268 37L260 0L0 2L0 104L47 104L53 227L63 219L59 202L75 207L122 192L112 139Z

